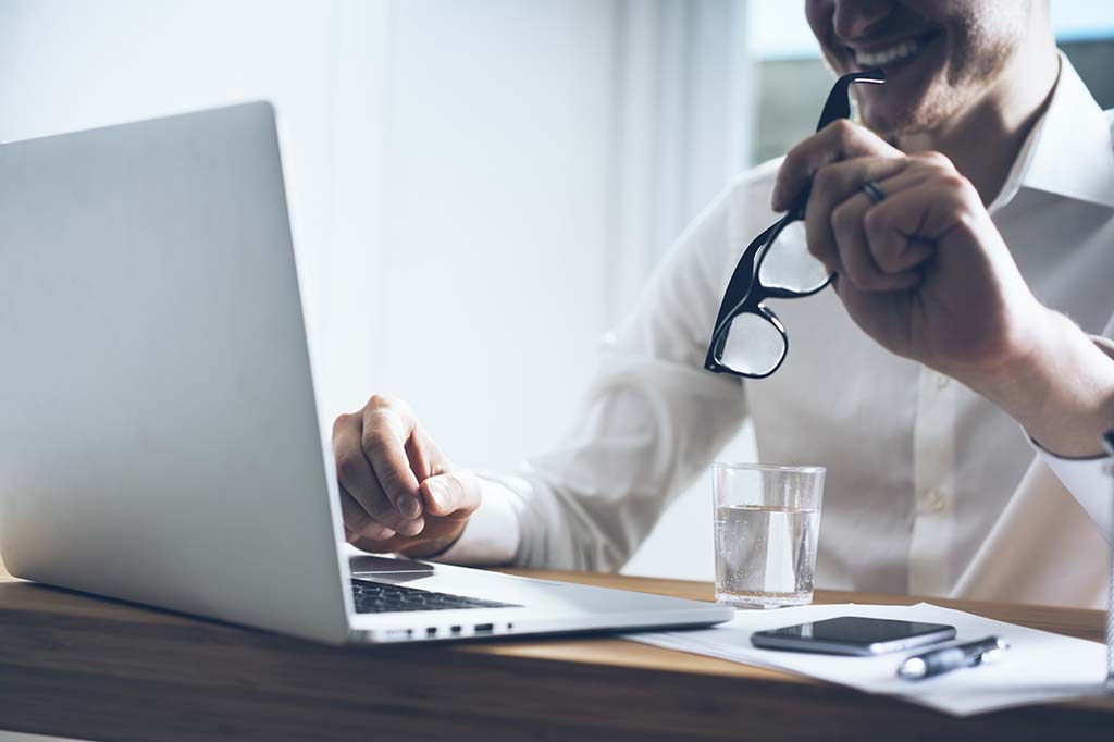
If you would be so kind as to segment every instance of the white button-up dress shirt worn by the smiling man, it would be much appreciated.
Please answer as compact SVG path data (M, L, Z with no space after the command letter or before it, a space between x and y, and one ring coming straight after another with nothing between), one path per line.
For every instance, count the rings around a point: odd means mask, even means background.
M989 207L1037 299L1107 336L1112 123L1062 56L1049 108ZM883 350L831 290L770 302L790 342L769 379L703 370L740 253L778 216L779 164L740 176L681 235L605 335L575 433L515 475L482 473L483 504L442 558L617 569L749 416L762 461L828 467L818 587L1102 605L1101 462L1037 450L986 399Z

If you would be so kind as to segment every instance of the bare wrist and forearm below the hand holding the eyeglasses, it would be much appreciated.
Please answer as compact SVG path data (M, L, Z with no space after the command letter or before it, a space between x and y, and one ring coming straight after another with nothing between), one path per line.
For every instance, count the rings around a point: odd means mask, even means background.
M961 379L998 404L1048 451L1102 455L1114 426L1114 358L1069 319L1044 310L1028 352L994 373Z

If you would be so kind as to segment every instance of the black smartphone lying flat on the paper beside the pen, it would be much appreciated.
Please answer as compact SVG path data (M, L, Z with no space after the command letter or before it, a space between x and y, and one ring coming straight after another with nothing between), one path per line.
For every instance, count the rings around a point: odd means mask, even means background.
M947 642L955 637L956 627L945 624L841 616L755 632L751 635L751 644L763 650L871 656Z

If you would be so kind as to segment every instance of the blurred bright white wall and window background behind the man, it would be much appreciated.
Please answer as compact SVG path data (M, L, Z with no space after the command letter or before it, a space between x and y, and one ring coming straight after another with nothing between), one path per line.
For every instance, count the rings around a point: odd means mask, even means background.
M1114 106L1114 3L1052 4ZM0 69L0 140L274 101L322 424L394 394L487 469L570 428L599 335L831 82L793 0L3 0ZM710 497L626 570L711 579Z

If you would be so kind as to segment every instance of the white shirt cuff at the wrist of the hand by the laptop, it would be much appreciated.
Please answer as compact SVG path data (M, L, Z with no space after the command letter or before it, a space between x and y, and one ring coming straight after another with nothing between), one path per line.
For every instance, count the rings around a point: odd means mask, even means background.
M520 528L514 498L518 495L502 482L480 476L482 500L468 519L457 543L437 562L491 567L515 560Z

